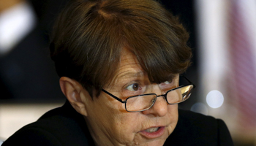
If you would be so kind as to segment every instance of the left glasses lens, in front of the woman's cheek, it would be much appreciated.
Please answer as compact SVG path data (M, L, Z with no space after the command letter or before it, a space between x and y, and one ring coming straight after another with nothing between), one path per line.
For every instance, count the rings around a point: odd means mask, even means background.
M127 99L125 106L129 112L147 110L154 104L156 98L157 96L155 94L130 97Z

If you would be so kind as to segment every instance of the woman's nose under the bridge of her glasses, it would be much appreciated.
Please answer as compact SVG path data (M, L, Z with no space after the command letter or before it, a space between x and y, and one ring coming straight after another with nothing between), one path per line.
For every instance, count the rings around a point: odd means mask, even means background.
M154 92L154 93L162 93L161 90ZM159 95L159 94L157 94ZM154 115L155 117L163 117L167 114L167 101L165 101L165 98L163 96L158 96L157 99L155 99L153 107L151 107L148 110L143 111L144 115Z

